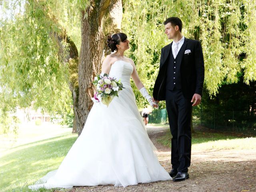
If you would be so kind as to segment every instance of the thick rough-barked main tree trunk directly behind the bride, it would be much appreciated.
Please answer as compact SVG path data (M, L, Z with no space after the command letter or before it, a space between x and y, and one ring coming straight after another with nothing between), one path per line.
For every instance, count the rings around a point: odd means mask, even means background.
M75 106L77 130L80 136L92 108L95 88L93 78L100 73L100 64L105 45L102 18L108 11L110 0L91 1L86 12L82 11L82 43L78 66L78 103Z

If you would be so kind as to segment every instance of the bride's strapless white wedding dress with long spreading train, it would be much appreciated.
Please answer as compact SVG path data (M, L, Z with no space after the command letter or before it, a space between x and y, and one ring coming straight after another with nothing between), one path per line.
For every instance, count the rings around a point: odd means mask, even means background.
M49 172L28 188L72 188L72 186L136 185L171 180L159 164L138 111L130 77L133 66L118 60L109 76L121 79L125 89L109 106L94 104L81 135L58 170Z

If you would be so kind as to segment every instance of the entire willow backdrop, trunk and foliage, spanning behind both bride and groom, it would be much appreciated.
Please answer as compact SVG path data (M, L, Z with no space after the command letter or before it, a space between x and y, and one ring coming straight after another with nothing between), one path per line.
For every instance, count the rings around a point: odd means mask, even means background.
M256 79L254 0L0 0L1 115L34 103L62 113L73 104L78 134L92 107L92 80L106 54L105 37L122 30L140 78L152 90L160 49L169 44L163 22L178 16L187 38L200 40L205 86ZM124 13L122 15L122 11ZM133 85L134 86L134 85ZM135 87L135 86L134 86ZM136 91L136 89L135 89ZM138 91L139 106L146 104ZM7 124L2 121L2 124Z

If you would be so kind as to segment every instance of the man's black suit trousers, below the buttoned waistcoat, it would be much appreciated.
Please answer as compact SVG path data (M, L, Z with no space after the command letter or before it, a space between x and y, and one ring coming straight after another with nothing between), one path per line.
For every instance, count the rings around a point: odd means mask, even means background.
M184 98L181 89L166 89L166 110L172 133L171 163L178 172L188 172L191 161L191 99Z

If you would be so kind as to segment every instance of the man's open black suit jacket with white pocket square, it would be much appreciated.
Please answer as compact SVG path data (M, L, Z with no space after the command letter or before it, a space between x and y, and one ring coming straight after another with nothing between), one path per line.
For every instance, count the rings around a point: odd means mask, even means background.
M190 50L190 54L184 54L185 50ZM153 97L161 101L166 100L166 76L168 59L172 53L172 43L163 47L161 50L160 68L156 78ZM177 64L180 65L181 89L183 96L192 99L195 93L202 96L204 84L204 57L202 47L199 41L192 39L184 39L184 44L180 48L178 54L181 59Z

